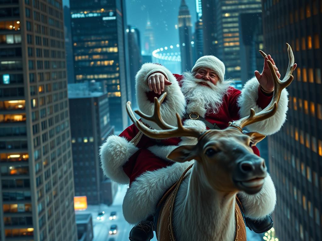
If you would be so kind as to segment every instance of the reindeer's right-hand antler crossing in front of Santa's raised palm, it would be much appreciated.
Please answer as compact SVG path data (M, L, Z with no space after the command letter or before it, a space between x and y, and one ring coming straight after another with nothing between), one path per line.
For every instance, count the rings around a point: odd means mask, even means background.
M274 93L273 93L273 97L272 100L270 101L269 105L266 106L266 108L264 108L262 111L258 112L255 114L255 111L253 108L251 108L251 113L249 116L246 116L240 120L237 121L233 121L231 123L230 126L232 127L236 127L240 130L242 130L242 128L244 128L247 125L250 125L252 123L258 122L258 121L263 121L271 116L273 116L276 111L277 111L277 104L279 102L279 98L281 95L281 92L283 89L285 89L287 86L289 86L291 84L291 82L293 81L293 65L294 65L294 55L293 55L293 51L291 46L289 46L288 43L286 43L287 45L287 51L289 54L289 67L287 69L286 75L283 78L283 80L280 80L275 72L274 66L272 64L272 62L270 62L270 60L268 60L268 66L270 68L270 72L272 74L273 77L273 81L274 81ZM266 57L267 55L260 50L260 54L263 57Z

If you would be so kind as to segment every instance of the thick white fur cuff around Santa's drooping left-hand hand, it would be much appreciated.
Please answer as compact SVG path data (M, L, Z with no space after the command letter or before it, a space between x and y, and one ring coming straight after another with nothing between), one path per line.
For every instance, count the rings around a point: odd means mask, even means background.
M181 117L184 115L186 101L175 76L173 76L166 67L153 63L142 65L136 75L137 106L140 111L147 115L151 115L153 113L154 103L151 103L147 99L146 95L146 92L150 91L147 85L147 77L153 72L161 72L172 83L172 85L165 86L167 96L164 103L161 104L160 113L162 119L166 121L166 123L176 126L177 119L175 113L178 113ZM145 119L143 119L143 121L154 129L160 129L154 122L147 121Z

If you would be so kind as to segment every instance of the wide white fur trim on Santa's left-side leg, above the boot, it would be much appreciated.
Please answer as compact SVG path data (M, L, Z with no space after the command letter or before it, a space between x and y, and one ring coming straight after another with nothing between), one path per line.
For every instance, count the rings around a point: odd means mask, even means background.
M136 224L156 210L162 195L194 161L178 163L143 173L131 184L123 201L123 215L127 222ZM189 170L190 171L190 170Z

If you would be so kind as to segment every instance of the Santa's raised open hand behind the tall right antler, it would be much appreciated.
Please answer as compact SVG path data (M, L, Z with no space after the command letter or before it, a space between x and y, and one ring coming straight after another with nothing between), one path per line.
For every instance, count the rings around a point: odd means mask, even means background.
M258 82L260 83L260 86L262 88L262 90L264 90L265 92L271 93L274 91L274 81L272 78L272 75L270 73L270 69L268 66L268 60L270 60L270 62L272 62L276 75L277 77L281 77L278 68L275 65L274 59L270 56L270 54L265 57L264 59L264 68L263 68L263 72L260 74L260 72L258 72L257 70L255 71L255 77L257 78ZM293 65L293 70L296 69L297 64Z

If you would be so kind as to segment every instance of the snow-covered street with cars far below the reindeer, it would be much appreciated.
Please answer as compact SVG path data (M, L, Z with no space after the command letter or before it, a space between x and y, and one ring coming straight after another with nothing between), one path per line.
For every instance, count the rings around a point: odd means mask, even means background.
M76 211L77 213L91 213L93 218L93 232L94 238L93 241L129 241L128 235L132 228L129 225L122 213L122 203L127 190L127 186L119 186L118 192L115 196L114 202L111 206L107 206L104 204L101 205L89 205L87 210L84 211ZM105 211L104 219L97 220L98 212ZM116 211L117 217L115 220L109 220L109 214L112 211ZM110 226L116 224L118 226L118 232L116 234L110 235L109 230ZM263 239L260 235L251 232L249 229L247 231L247 241L262 241ZM156 236L152 239L152 241L157 241Z

